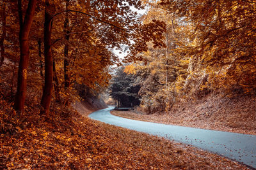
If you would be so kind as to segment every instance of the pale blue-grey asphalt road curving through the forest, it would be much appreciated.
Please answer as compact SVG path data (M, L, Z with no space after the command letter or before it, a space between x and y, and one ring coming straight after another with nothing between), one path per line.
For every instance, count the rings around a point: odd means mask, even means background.
M256 168L256 136L254 135L130 120L111 115L109 111L113 110L113 108L109 107L95 111L89 117L106 124L146 132L193 145Z

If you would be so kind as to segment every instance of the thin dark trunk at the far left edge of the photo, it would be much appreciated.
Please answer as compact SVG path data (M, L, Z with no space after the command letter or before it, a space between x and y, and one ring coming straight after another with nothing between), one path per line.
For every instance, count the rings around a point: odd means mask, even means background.
M6 13L5 13L5 8L6 8L6 3L3 1L3 7L2 7L2 13L1 13L1 17L2 17L2 36L0 39L0 48L1 48L1 59L0 59L0 67L3 65L4 63L4 39L6 37Z

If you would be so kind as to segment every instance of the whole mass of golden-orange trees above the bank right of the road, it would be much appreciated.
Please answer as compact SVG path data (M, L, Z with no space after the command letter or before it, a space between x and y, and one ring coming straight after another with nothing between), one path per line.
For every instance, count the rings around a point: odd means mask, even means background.
M154 20L166 25L162 44L151 39L147 52L136 53L143 62L126 66L143 82L138 94L145 112L211 92L256 93L254 1L144 2L145 27Z

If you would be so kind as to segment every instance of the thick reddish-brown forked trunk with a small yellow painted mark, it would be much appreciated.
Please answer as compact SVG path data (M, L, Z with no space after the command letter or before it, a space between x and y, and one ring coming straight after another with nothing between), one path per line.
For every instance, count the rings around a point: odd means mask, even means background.
M15 110L23 111L27 91L27 69L29 59L29 32L35 14L36 0L29 0L24 22L22 22L22 3L18 0L20 18L20 62L18 71L18 84L15 96Z

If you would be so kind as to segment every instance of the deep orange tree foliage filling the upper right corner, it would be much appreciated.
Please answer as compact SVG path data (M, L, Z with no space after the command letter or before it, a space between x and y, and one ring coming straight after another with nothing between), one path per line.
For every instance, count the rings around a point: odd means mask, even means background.
M191 73L208 75L208 84L213 89L243 87L244 92L255 89L253 1L162 0L161 5L192 25L188 38L193 43L188 50L184 49L191 57Z

